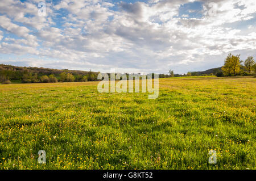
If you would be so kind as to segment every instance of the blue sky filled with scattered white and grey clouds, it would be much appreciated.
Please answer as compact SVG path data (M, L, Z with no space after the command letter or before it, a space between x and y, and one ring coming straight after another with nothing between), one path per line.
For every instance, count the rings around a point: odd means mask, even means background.
M0 64L203 71L222 66L228 53L256 58L255 15L255 0L5 0Z

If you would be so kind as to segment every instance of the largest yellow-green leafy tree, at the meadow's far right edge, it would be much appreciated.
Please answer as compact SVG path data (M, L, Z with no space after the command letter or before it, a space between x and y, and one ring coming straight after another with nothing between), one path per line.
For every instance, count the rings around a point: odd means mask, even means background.
M221 68L225 75L237 75L240 72L241 66L240 54L234 56L229 53L228 57L226 57L224 66Z

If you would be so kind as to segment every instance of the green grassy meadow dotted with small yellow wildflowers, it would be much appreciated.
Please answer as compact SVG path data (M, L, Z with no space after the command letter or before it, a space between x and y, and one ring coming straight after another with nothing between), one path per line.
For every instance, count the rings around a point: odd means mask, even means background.
M256 169L256 78L159 79L158 99L97 83L0 85L0 169Z

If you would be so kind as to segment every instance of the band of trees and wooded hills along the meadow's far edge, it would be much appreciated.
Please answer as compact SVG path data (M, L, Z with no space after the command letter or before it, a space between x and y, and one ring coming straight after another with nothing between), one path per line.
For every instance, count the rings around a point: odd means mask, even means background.
M234 56L229 53L221 68L209 69L206 71L189 71L187 74L175 74L169 70L168 74L159 74L159 78L184 77L199 75L236 76L255 75L256 64L253 57L249 56L243 62L240 54ZM0 65L0 83L11 82L22 83L48 83L48 82L86 82L98 81L99 72L81 70L58 70L46 68L26 68L12 65ZM126 73L127 77L128 74Z

